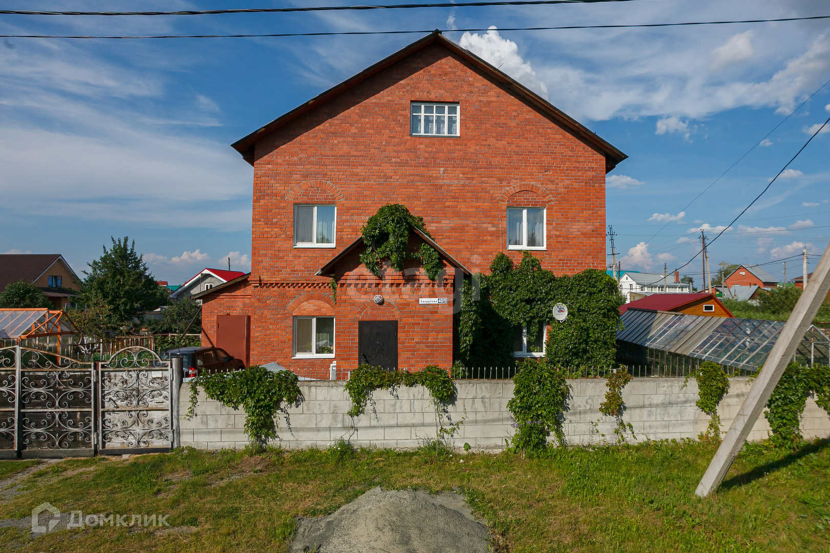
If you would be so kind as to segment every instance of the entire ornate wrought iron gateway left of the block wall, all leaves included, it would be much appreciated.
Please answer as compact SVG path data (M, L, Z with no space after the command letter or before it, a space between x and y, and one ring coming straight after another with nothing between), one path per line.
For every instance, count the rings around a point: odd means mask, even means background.
M148 453L173 443L170 361L127 347L93 363L0 348L0 458Z

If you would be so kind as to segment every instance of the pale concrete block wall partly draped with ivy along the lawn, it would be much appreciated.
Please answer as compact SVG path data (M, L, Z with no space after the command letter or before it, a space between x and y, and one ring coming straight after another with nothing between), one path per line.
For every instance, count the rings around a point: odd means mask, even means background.
M696 438L706 431L709 417L701 412L697 384L683 386L682 378L636 378L623 389L626 410L623 420L631 423L635 439ZM565 413L564 432L569 444L603 444L615 442L614 420L599 412L605 399L605 380L570 380L569 410ZM730 392L721 400L718 413L722 429L729 429L740 405L749 392L747 378L731 378ZM512 381L456 381L457 399L448 406L445 426L464 420L453 440L460 447L465 442L474 449L499 450L505 447L515 429L511 426L507 401L513 396ZM434 439L437 420L429 393L423 386L401 387L390 393L374 392L366 413L352 419L346 412L352 403L342 381L300 382L303 400L281 414L279 439L275 445L286 449L326 448L338 439L355 446L412 449ZM242 448L248 444L243 432L245 414L200 393L192 420L187 412L189 384L181 390L181 444L198 449ZM812 399L807 400L802 420L805 438L830 437L830 417ZM604 434L604 437L603 437ZM769 424L762 417L749 439L764 439Z

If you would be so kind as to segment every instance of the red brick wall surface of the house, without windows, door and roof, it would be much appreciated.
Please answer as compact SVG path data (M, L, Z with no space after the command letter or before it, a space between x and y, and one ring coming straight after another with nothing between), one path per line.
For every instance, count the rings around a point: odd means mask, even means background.
M461 136L410 136L410 101L457 102ZM547 249L533 251L546 269L605 267L604 156L444 46L427 46L268 134L256 143L254 167L247 299L210 294L203 308L207 332L216 314L251 315L252 363L328 378L331 359L291 359L293 317L333 309L339 377L357 366L360 320L398 320L400 366L452 365L452 302L417 302L452 298L452 269L442 285L417 267L376 279L355 254L338 269L337 303L320 297L331 298L330 278L315 272L386 203L422 216L473 272L489 272L500 251L520 260L521 251L506 250L508 206L547 208ZM317 202L337 206L336 248L295 248L294 206Z

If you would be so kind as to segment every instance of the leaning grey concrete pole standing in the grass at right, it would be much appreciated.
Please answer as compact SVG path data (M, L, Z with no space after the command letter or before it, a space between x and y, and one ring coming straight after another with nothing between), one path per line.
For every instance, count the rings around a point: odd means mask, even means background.
M830 290L828 274L830 274L830 244L824 250L824 255L813 272L810 287L801 294L801 298L798 298L793 313L790 314L772 351L769 352L769 357L764 363L764 370L752 383L744 405L740 406L740 411L732 421L732 426L724 436L724 441L720 443L715 458L712 458L709 468L701 478L701 483L697 485L695 493L698 496L706 497L720 486L726 472L738 456L738 452L744 447L749 431L755 425L764 406L767 405L769 396L772 395L781 375L784 374L784 369L793 358L798 342L801 342L804 332L807 332L808 327L813 323L818 308L821 307L823 299Z

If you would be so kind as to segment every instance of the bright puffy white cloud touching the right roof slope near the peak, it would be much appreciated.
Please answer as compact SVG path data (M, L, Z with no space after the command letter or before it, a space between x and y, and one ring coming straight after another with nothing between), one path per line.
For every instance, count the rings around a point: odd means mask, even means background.
M496 26L491 25L488 31L481 35L465 32L461 35L458 46L504 71L544 99L548 98L547 85L536 76L535 70L530 67L530 62L520 56L519 45L502 38Z

